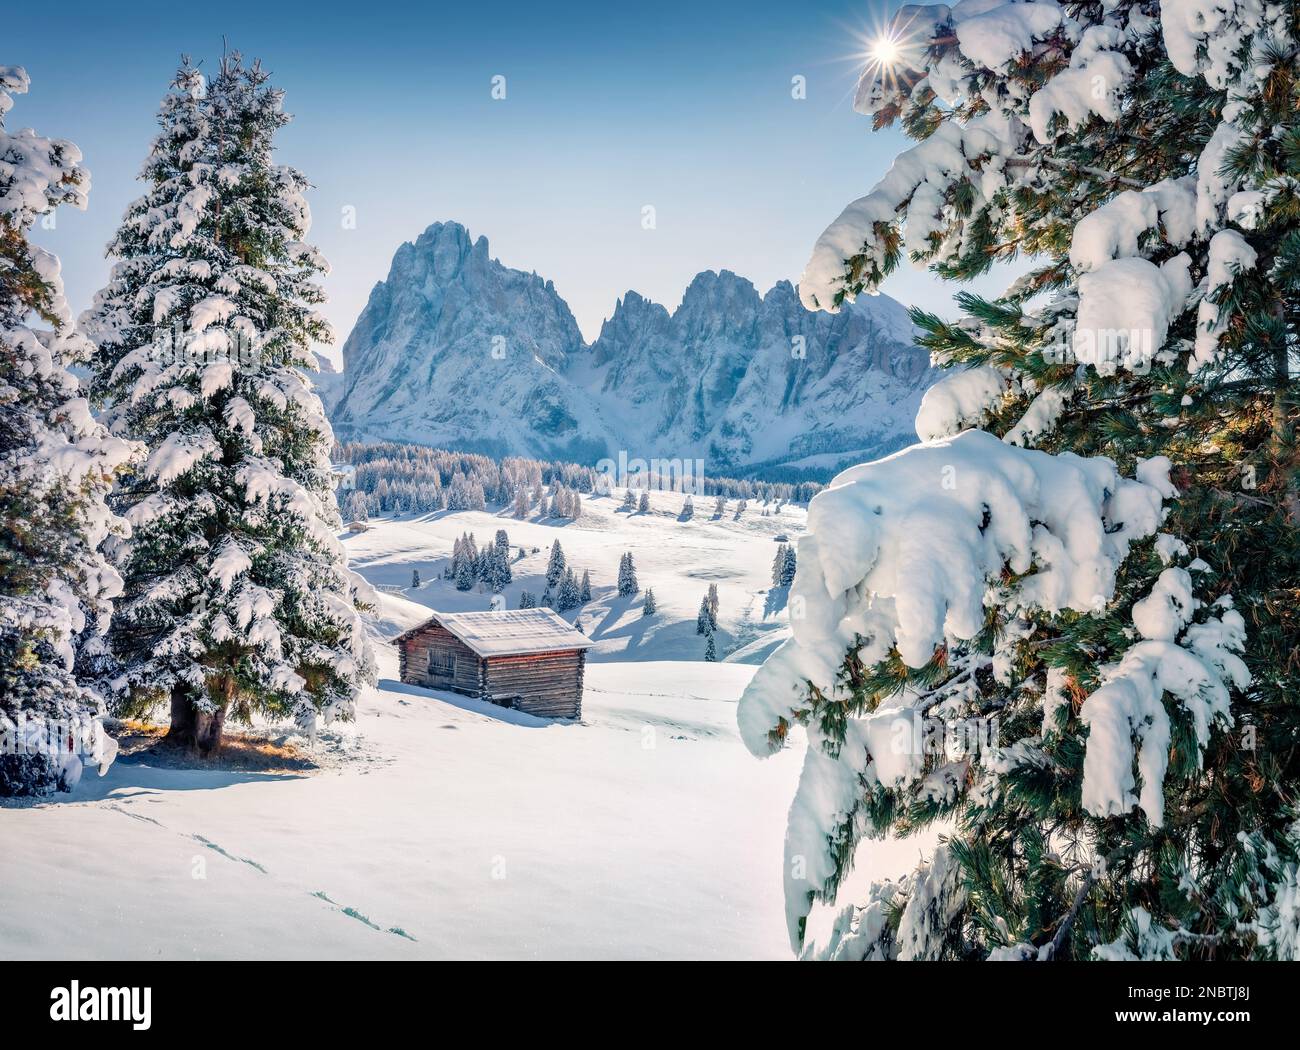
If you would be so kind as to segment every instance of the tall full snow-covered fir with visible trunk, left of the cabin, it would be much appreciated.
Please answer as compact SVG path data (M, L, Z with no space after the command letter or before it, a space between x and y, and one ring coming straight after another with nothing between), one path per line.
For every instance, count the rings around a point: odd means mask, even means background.
M148 459L117 493L133 526L110 632L129 708L170 702L172 736L216 750L228 716L348 716L374 671L308 374L332 335L307 179L273 160L289 121L257 65L182 64L146 192L109 244L84 324L92 389Z

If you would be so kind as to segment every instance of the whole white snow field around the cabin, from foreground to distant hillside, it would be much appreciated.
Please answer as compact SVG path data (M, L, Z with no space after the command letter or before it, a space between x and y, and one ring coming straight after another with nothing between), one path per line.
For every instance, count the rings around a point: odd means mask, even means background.
M585 500L573 524L455 513L347 537L372 582L437 577L455 537L506 528L541 593L550 543L589 568L597 641L581 724L546 723L395 681L325 732L321 772L273 776L118 762L73 795L0 811L0 955L9 958L780 958L781 837L800 754L758 762L736 699L784 612L763 609L776 544L802 511L751 504L677 521L681 496L628 516ZM642 589L619 599L619 555ZM719 654L696 611L720 593ZM378 635L425 607L486 608L441 580L381 593ZM568 613L572 619L573 613ZM742 663L744 661L744 663Z

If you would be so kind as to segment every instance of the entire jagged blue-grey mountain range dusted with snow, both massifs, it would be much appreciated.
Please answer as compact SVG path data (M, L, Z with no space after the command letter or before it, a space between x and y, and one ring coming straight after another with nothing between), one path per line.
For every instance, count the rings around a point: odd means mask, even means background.
M888 296L811 313L788 282L708 270L672 313L629 291L588 347L551 282L434 224L374 287L326 399L344 439L829 474L914 441L933 373L913 337Z

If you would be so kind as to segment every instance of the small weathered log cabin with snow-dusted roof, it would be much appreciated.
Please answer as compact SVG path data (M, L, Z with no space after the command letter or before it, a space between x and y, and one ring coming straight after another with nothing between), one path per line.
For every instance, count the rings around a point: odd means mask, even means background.
M393 639L402 681L547 719L582 716L592 641L550 609L436 612Z

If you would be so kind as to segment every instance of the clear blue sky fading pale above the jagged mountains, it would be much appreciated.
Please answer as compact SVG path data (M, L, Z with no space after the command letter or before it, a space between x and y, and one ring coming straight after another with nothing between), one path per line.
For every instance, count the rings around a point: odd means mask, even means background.
M211 65L224 35L286 91L280 156L316 186L339 344L398 244L446 220L554 279L592 339L628 288L672 308L703 269L760 291L798 279L822 229L906 143L850 107L863 42L890 6L73 0L57 19L38 5L6 14L0 62L32 79L9 126L72 139L92 174L87 213L65 209L39 235L75 309L107 275L104 244L139 195L179 55ZM923 272L885 291L952 312L954 288Z

